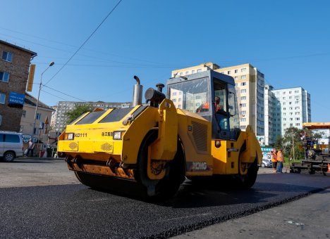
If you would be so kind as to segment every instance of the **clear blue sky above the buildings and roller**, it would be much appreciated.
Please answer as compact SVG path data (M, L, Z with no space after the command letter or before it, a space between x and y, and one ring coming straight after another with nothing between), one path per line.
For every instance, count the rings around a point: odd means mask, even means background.
M31 94L42 80L47 105L128 102L134 75L144 93L179 68L250 63L274 89L301 86L312 122L330 122L329 13L328 0L11 0L0 39L37 53Z

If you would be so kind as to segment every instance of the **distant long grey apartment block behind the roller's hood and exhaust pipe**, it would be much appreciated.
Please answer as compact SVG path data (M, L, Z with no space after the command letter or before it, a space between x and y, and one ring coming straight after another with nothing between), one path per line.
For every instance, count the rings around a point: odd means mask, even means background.
M132 103L59 101L59 103L53 107L53 109L56 110L51 117L51 125L53 126L53 129L56 131L62 131L66 127L66 112L74 110L74 108L79 105L91 105L92 108L107 110L109 108L128 108Z

